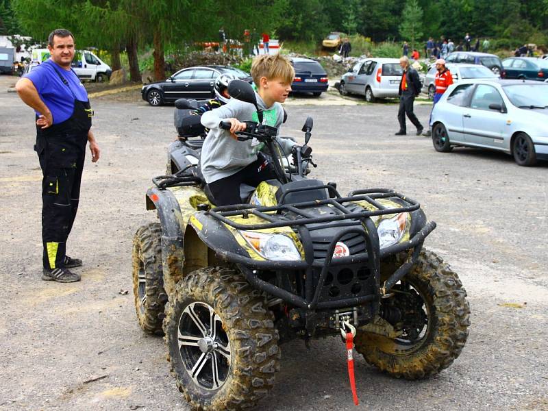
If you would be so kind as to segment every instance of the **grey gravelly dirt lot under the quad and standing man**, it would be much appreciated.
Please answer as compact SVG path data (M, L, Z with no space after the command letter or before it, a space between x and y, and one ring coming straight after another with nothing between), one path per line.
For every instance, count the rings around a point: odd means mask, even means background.
M188 410L162 338L143 334L132 296L132 237L151 177L175 138L173 107L92 101L101 145L86 159L69 254L82 282L40 280L40 179L33 114L0 77L0 409ZM134 93L136 95L136 93ZM299 100L299 99L297 99ZM312 100L310 100L312 103ZM438 223L426 247L459 273L470 336L449 369L419 382L392 379L360 357L360 410L548 410L548 165L516 166L499 153L436 153L427 138L393 136L397 105L289 103L283 134L314 117L313 175L353 188L396 188ZM429 106L416 112L423 123ZM411 129L410 129L411 130ZM129 294L120 294L129 290ZM512 304L517 304L512 306ZM95 382L90 379L103 377ZM282 368L260 410L352 409L340 339L282 346Z

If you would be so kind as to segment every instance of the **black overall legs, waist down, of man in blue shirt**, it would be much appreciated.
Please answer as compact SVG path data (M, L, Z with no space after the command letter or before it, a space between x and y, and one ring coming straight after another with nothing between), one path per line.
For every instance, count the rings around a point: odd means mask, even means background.
M66 239L73 227L86 157L86 133L38 136L42 169L42 243L46 269L64 266Z

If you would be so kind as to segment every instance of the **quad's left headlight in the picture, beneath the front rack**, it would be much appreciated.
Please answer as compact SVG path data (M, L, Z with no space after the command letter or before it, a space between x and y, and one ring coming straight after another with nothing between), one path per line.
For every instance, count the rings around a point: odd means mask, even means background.
M256 232L240 231L242 237L261 256L273 261L298 261L301 254L295 242L284 234L264 234Z

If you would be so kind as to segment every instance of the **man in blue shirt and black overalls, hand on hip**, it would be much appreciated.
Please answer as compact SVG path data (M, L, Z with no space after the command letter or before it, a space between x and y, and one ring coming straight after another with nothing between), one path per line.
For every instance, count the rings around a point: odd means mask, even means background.
M21 100L36 112L36 145L42 169L42 242L45 281L75 282L69 269L82 260L66 256L80 192L86 144L92 162L99 160L99 145L91 132L88 93L71 69L74 36L56 29L48 38L51 58L16 84Z

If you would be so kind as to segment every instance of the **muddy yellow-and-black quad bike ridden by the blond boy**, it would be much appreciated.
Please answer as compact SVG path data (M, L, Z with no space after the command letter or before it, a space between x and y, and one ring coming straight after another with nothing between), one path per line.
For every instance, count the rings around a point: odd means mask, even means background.
M256 104L245 82L229 92ZM284 165L277 129L258 117L238 138L265 143L277 179L216 207L199 166L155 177L146 202L160 222L134 238L138 321L164 334L185 399L199 410L254 406L273 387L279 346L294 338L355 337L366 362L395 377L447 368L466 343L470 310L456 273L423 248L436 224L393 190L342 196L306 178L310 117L305 144Z

